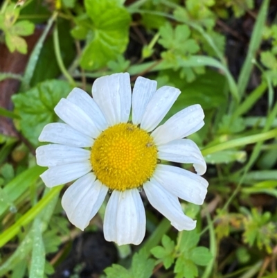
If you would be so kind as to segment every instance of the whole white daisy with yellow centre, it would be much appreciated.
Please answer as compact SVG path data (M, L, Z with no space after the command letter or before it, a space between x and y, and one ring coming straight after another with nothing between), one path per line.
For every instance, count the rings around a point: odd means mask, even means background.
M139 191L179 231L195 228L178 198L202 205L208 182L206 163L197 145L183 139L204 125L200 105L192 105L157 125L180 94L143 77L131 92L128 73L98 78L93 98L75 88L55 107L64 123L44 127L37 148L37 164L48 166L41 177L46 186L66 182L62 207L80 229L89 225L110 190L104 236L118 245L138 245L145 236L145 209ZM132 103L132 121L129 121ZM158 162L192 163L196 173Z

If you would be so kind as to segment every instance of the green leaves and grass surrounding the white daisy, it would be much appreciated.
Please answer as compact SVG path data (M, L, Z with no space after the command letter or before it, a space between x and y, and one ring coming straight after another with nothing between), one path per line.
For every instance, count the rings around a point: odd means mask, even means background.
M10 53L10 67L0 72L1 101L16 91L15 110L0 107L6 117L0 123L0 277L50 277L75 248L71 236L82 238L64 217L61 187L44 189L39 175L45 169L35 166L34 148L44 125L59 121L53 108L71 85L89 92L95 78L117 72L129 72L132 85L144 76L157 80L158 87L181 90L163 122L189 105L202 105L204 128L189 139L202 150L210 185L204 206L181 201L186 215L197 219L197 230L189 232L173 229L146 205L142 193L143 248L118 248L118 264L101 277L222 277L233 261L238 263L230 276L276 277L261 265L265 256L269 266L274 262L277 241L277 25L269 17L271 2L59 0L42 5L33 0L16 6L2 1L0 42L30 58L19 72L21 61ZM240 23L242 30L235 30ZM24 37L35 26L37 42L30 53ZM229 51L236 54L237 46L247 55L238 51L239 60L233 61ZM239 75L236 68L242 69ZM19 82L20 89L14 89ZM179 166L193 171L190 164ZM104 211L105 205L100 217ZM102 231L101 223L96 218L87 231ZM229 247L232 252L225 254ZM80 277L83 269L83 262L72 266L71 277Z

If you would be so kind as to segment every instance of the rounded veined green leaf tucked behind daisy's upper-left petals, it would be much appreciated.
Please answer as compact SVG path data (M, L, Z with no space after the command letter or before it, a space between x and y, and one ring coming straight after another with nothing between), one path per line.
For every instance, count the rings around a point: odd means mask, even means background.
M26 93L12 96L15 108L21 116L21 130L34 146L39 145L37 138L42 128L57 120L54 107L70 91L71 87L65 81L47 80Z

